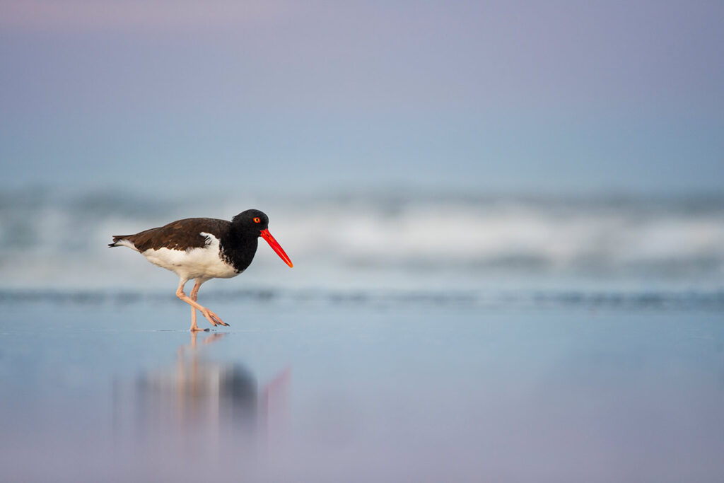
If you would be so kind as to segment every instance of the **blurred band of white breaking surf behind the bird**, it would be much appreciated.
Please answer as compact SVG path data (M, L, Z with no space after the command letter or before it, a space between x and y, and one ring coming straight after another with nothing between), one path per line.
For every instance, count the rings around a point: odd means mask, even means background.
M255 283L460 287L610 280L722 287L724 198L346 196L152 200L130 193L1 193L5 287L142 287L168 282L125 235L182 217L256 207L290 254L260 250ZM250 280L252 280L250 278ZM512 281L512 282L511 282ZM547 285L546 285L547 284Z

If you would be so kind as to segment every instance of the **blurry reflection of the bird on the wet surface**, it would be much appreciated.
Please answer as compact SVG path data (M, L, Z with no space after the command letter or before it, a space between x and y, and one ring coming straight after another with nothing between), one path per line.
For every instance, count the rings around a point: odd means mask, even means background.
M177 348L174 365L140 374L130 384L117 382L117 437L161 453L202 458L227 453L230 445L236 454L251 455L279 437L287 419L290 369L259 385L244 366L205 358L206 346L225 336L193 332L190 344Z

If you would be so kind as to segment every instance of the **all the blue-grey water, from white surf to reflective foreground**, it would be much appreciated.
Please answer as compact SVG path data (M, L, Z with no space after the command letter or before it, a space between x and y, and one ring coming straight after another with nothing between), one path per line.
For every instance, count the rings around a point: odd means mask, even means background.
M295 267L203 285L223 331L106 248L252 206ZM722 198L5 190L0 221L2 481L724 477Z

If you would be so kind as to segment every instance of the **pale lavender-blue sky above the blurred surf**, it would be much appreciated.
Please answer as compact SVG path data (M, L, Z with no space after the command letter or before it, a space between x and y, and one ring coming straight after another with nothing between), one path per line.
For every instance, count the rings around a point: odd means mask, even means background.
M721 1L0 0L0 186L724 189Z

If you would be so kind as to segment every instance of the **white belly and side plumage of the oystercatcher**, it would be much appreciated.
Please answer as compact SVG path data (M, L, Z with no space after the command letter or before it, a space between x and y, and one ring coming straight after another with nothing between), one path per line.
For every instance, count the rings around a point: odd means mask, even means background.
M211 233L201 232L200 235L206 237L206 246L203 248L150 248L141 254L152 264L176 272L185 280L236 277L239 273L234 267L219 258L219 239Z

